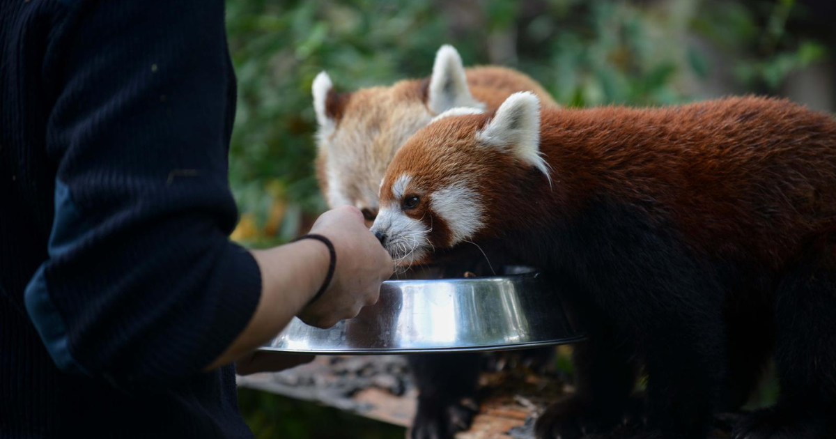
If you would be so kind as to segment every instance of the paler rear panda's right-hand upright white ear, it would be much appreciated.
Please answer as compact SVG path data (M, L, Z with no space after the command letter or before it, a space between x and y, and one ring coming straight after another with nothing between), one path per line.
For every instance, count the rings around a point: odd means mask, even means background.
M474 99L467 87L465 66L456 49L445 44L436 53L427 106L436 115L455 107L483 109L485 105Z

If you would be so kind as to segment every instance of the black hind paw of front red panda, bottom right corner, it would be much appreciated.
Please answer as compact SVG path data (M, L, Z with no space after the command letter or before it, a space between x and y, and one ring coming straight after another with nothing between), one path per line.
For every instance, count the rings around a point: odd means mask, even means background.
M776 406L743 416L732 439L832 439L836 437L833 412L820 407Z

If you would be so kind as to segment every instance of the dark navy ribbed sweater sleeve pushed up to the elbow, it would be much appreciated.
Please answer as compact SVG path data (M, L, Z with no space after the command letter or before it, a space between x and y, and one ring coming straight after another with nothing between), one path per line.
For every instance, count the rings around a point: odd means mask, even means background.
M200 371L261 291L229 241L235 79L222 0L64 2L48 43L48 261L25 302L63 370L111 380Z

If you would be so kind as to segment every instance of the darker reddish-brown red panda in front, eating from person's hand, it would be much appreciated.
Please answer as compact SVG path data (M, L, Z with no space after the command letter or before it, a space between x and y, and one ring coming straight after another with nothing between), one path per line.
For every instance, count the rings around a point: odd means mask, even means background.
M588 324L577 395L538 438L704 438L772 353L750 439L836 437L836 121L786 100L450 110L395 155L372 232L426 263L471 245L538 266Z

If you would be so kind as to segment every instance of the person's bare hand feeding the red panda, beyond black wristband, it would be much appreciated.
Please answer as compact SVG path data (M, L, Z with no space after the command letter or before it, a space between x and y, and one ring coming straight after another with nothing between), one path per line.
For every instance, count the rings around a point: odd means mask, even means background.
M364 306L377 303L380 283L394 264L375 235L365 227L356 207L338 207L320 216L311 233L328 237L337 254L334 277L324 294L298 314L306 324L330 328L354 318Z

